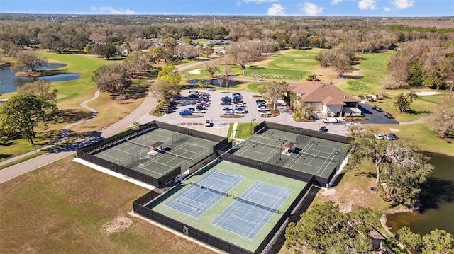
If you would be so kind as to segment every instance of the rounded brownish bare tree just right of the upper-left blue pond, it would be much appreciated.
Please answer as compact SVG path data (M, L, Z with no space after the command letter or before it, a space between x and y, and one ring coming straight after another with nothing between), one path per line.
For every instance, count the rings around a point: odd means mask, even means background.
M131 85L128 68L124 64L107 64L93 72L93 81L99 91L109 92L112 95L125 91Z

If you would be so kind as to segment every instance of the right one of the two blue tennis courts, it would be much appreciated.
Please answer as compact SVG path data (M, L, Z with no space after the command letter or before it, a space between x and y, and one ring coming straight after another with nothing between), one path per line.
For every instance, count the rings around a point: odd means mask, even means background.
M284 187L256 181L248 190L219 214L211 224L249 239L255 238L263 226L292 193Z

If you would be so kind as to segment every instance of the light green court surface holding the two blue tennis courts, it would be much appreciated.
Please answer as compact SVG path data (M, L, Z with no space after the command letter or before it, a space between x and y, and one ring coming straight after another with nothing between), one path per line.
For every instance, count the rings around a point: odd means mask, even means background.
M253 253L306 184L221 161L147 207Z

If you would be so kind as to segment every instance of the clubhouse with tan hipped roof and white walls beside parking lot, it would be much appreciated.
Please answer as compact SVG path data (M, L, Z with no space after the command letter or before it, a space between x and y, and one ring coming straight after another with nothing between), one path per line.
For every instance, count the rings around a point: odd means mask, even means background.
M358 109L360 99L328 83L292 83L287 91L296 93L299 101L311 104L312 110L319 112L317 116L320 118L361 115Z

